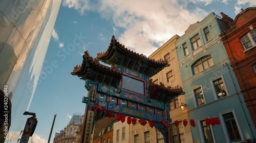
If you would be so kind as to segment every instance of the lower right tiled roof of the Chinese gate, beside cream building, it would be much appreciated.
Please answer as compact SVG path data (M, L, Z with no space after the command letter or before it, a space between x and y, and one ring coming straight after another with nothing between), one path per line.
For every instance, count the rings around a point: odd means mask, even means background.
M158 85L153 83L152 81L153 80L151 79L150 80L150 98L151 99L169 103L175 100L175 98L178 97L179 95L184 94L181 87L172 88L167 86L166 88L164 84L162 84L162 82L160 82L160 85Z

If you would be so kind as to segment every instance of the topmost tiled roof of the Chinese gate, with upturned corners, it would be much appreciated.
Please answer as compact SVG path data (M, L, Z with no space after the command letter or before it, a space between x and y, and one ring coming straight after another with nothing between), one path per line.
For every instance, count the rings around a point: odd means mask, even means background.
M97 54L97 59L105 64L117 64L149 77L169 66L166 60L156 61L125 48L115 39L115 36L112 36L109 48L105 52Z

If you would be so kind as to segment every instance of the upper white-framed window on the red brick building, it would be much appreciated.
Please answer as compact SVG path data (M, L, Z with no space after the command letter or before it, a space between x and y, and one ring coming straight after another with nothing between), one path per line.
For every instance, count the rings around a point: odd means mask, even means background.
M241 38L241 42L245 50L248 50L256 45L256 29L247 33Z

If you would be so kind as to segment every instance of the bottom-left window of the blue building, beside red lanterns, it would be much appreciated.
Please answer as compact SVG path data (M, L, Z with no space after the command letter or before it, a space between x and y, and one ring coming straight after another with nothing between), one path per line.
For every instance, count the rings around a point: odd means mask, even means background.
M205 120L201 121L201 127L203 131L204 142L213 143L214 138L212 137L210 126L205 124Z

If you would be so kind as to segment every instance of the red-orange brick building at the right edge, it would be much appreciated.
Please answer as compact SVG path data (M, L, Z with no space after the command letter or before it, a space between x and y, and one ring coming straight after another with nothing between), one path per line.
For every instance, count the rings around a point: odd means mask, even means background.
M256 8L242 9L234 20L224 13L221 15L231 26L220 36L256 126Z

